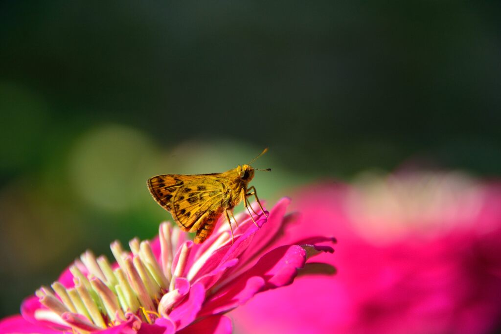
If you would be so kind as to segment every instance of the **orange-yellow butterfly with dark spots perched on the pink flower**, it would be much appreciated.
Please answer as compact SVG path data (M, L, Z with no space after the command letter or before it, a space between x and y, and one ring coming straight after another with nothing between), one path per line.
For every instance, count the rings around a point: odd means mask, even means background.
M268 148L248 164L239 165L223 173L157 175L148 179L148 189L153 199L172 214L172 218L182 230L196 232L193 240L195 243L202 243L210 236L223 213L233 239L229 215L233 216L232 210L240 201L243 201L255 224L256 221L250 213L250 209L254 209L250 206L249 196L255 196L261 211L266 215L256 188L248 187L248 183L254 178L255 170L271 171L270 168L256 169L249 165L267 151ZM254 213L257 214L256 211ZM233 220L236 223L234 216Z

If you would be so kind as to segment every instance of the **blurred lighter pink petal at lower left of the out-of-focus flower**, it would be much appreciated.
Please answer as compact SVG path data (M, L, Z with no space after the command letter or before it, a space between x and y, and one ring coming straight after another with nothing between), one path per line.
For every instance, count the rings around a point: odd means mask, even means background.
M300 275L301 270L298 273ZM336 277L335 279L337 279ZM287 334L354 334L335 326L341 312L348 322L355 318L348 309L338 306L336 298L345 298L343 287L335 288L332 276L297 277L293 284L258 293L245 305L231 311L235 332ZM259 319L259 321L256 321ZM333 330L333 325L337 330ZM371 331L358 333L369 334ZM401 334L403 334L402 332Z

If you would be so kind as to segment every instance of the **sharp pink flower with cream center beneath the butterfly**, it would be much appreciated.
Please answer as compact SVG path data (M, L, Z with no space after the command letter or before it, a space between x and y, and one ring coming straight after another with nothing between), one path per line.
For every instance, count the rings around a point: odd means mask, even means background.
M280 242L297 217L285 215L289 202L280 200L268 218L257 216L257 224L240 214L234 242L224 221L203 244L163 223L151 242L131 240L131 253L113 242L117 263L87 251L52 288L42 286L25 299L22 315L3 319L0 333L231 332L224 313L257 293L291 284L308 271L312 256L333 252L319 244L332 238Z

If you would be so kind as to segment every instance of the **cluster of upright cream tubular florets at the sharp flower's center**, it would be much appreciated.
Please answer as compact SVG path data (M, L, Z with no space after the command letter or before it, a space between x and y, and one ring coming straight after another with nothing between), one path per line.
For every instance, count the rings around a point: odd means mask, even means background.
M74 287L56 281L52 289L42 286L36 291L40 302L52 312L39 309L35 316L84 330L116 325L130 313L149 323L159 316L168 317L179 301L176 278L184 271L190 251L183 244L174 261L179 233L168 223L160 225L158 261L150 243L137 238L129 242L132 254L124 251L119 241L111 244L117 261L113 266L106 256L96 258L87 250L70 266Z

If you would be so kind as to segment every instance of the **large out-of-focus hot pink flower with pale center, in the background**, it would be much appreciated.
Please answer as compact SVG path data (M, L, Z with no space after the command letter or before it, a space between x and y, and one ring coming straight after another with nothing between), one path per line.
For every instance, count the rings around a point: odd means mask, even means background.
M256 296L231 313L239 333L499 328L501 184L415 172L310 187L294 204L303 221L284 240L335 234L337 255L318 259L338 274L300 277Z

